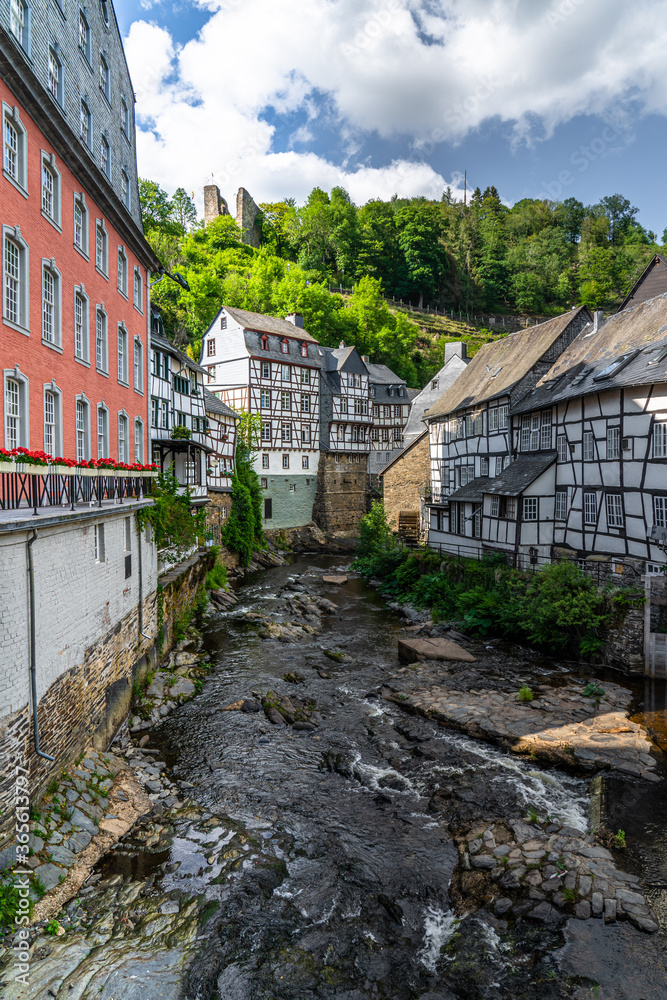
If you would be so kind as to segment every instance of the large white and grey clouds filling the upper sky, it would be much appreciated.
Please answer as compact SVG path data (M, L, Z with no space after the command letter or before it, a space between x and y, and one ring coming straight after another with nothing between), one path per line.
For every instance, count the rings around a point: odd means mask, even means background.
M150 0L145 0L150 2ZM317 134L318 95L352 154L361 139L408 137L428 156L495 117L534 142L581 113L667 113L667 0L195 0L211 17L177 48L135 22L126 50L137 92L139 165L173 189L213 176L261 200L343 184L353 198L431 194L425 163L345 169L313 152L276 153L275 113ZM156 4L156 7L159 4ZM154 8L155 9L155 8ZM331 111L327 121L331 127Z

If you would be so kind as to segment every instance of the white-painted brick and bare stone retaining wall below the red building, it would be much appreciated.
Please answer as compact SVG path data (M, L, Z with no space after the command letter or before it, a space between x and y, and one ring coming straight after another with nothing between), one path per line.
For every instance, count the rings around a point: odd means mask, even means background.
M96 523L105 526L105 563L109 566L100 566L94 552L90 559L90 531L94 529L90 518L53 525L50 539L48 530L40 528L33 546L39 739L40 749L53 756L53 762L34 752L28 604L22 586L27 533L0 537L0 568L16 563L16 569L22 556L23 571L13 574L16 598L8 611L14 628L9 637L3 634L8 644L0 650L3 667L14 667L13 671L3 670L5 684L0 691L0 848L10 839L13 827L13 775L8 773L7 754L11 752L29 768L35 801L51 778L70 766L86 746L108 747L130 709L133 684L143 679L169 648L175 620L194 602L213 564L212 555L197 553L162 577L158 586L155 548L142 536L139 603L136 545L131 553L135 557L132 572L125 578L126 567L130 568L124 553L125 516L125 511L95 514ZM40 542L41 551L37 548ZM119 575L113 563L121 556ZM86 572L91 563L92 576ZM73 582L69 583L68 575L72 574ZM97 583L96 574L103 577ZM0 579L9 582L4 572L0 572ZM0 597L2 618L7 593ZM10 644L12 655L8 659Z

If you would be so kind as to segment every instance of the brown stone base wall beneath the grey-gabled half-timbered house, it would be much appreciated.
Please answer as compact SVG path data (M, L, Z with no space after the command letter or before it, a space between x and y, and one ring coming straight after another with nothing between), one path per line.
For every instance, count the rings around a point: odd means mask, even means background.
M367 457L320 453L313 520L325 534L358 529L368 510Z

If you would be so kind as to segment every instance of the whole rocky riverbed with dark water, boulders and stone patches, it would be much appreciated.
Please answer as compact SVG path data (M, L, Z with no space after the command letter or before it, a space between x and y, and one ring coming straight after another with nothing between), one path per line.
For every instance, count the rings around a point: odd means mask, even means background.
M604 694L577 702L591 678L465 636L475 662L406 668L414 621L340 558L257 573L236 597L180 651L210 662L201 690L114 747L154 812L67 904L66 933L35 937L29 996L583 1000L597 983L602 1000L663 1000L665 858L651 848L647 881L602 829L655 797L642 771L660 777L661 754L634 773L513 752L549 735L550 700L572 710L559 725L597 717L598 697L627 720L622 685L599 676ZM453 676L470 720L419 710ZM527 734L509 712L523 683ZM507 736L472 725L495 695Z

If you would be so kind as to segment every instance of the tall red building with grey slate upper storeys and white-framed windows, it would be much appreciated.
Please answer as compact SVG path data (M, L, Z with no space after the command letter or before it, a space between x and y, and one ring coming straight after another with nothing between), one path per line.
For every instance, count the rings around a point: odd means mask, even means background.
M0 16L0 446L149 461L158 265L120 35L111 4L30 10Z

